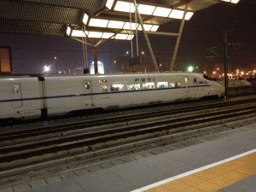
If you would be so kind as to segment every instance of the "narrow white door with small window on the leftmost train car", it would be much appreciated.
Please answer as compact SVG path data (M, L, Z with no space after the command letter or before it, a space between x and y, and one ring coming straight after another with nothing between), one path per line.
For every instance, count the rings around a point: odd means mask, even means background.
M20 84L10 84L10 94L12 99L13 108L22 107L22 97L21 97L21 88Z

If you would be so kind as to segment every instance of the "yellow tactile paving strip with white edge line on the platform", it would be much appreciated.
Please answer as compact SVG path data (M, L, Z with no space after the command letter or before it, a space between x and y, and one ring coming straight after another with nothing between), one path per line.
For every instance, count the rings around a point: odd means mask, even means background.
M133 192L213 192L256 174L256 149Z

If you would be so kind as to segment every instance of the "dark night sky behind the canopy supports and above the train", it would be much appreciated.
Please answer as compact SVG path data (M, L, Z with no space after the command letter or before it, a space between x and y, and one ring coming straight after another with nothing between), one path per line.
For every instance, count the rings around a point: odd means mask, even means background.
M223 67L223 33L229 31L228 47L230 55L229 69L237 67L243 70L256 68L256 1L241 0L237 5L218 3L195 13L185 22L183 36L177 51L174 70L184 71L188 65L198 67L198 72L212 71ZM177 32L180 20L174 20L160 26L160 32ZM176 38L148 35L160 70L167 71L172 60ZM96 42L97 39L94 39ZM133 39L133 51L136 53L136 38ZM234 44L241 44L237 48ZM44 65L51 65L53 71L70 71L84 66L83 46L67 37L0 34L0 46L9 46L12 51L14 73L42 73ZM207 59L212 53L207 50L213 46L218 56ZM92 49L87 47L88 62L93 61ZM137 71L154 71L143 34L138 35L139 53L144 51L143 63L136 66ZM126 54L126 51L129 54ZM98 49L98 60L105 65L105 73L131 72L131 41L106 41ZM55 60L55 57L57 58ZM114 62L115 61L115 62ZM79 73L79 70L77 71Z

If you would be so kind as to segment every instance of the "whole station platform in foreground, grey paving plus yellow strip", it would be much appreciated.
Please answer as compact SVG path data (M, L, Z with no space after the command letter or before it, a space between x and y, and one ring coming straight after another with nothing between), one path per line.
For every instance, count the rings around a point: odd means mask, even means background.
M256 191L256 125L129 154L0 192Z

